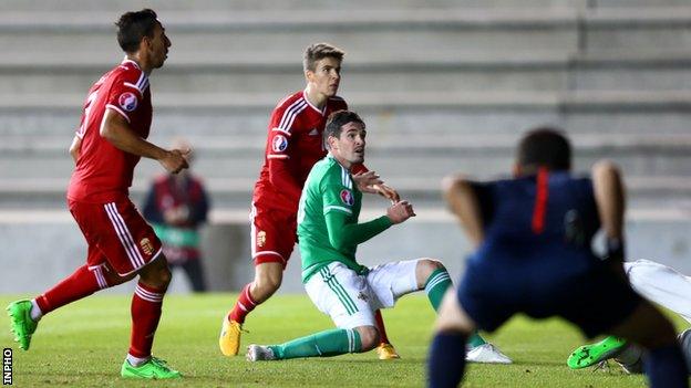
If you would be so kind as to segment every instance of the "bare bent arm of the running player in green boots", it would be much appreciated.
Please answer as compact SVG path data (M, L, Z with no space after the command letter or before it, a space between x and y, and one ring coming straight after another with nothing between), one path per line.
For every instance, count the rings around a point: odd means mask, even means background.
M186 160L186 156L190 153L189 149L166 150L146 141L132 130L130 123L123 116L112 109L105 111L105 122L101 126L101 136L125 153L158 160L169 172L179 172L189 167Z

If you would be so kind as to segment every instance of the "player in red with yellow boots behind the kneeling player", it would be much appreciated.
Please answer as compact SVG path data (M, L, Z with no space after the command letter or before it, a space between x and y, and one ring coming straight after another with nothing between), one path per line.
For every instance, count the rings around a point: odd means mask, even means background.
M226 356L238 354L241 325L258 304L280 286L283 270L297 240L298 201L312 166L327 155L322 133L332 112L348 108L336 95L341 81L344 52L327 43L307 48L303 71L307 87L293 93L271 113L266 154L255 185L251 208L251 254L255 280L240 292L234 308L224 317L218 339ZM353 178L361 191L398 201L398 192L384 185L374 171L360 166ZM381 314L377 318L382 335L381 359L398 358L389 344Z

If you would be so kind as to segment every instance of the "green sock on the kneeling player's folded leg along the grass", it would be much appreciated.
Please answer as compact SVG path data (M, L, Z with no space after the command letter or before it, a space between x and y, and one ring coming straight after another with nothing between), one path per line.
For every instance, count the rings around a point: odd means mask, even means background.
M270 348L278 359L332 357L347 353L360 353L362 342L354 328L333 328L296 338L282 345L270 346Z

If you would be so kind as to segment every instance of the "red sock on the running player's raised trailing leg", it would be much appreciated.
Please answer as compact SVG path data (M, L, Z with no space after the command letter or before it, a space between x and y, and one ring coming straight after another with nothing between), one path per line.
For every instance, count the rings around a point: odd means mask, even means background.
M84 264L69 277L65 277L62 282L37 297L35 301L43 315L45 315L55 308L79 301L106 287L109 287L109 284L103 276L102 266L93 266L90 270Z

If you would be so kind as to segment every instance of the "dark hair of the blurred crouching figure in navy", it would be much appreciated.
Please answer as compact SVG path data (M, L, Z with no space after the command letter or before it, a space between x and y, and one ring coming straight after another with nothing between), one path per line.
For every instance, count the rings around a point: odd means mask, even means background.
M520 139L517 161L522 167L568 170L571 168L571 145L561 130L538 127Z

